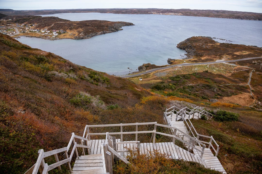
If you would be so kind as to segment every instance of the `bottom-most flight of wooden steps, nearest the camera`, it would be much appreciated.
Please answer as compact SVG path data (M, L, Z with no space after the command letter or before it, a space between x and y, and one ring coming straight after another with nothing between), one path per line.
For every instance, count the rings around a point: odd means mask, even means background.
M102 154L82 155L77 157L73 174L104 174Z

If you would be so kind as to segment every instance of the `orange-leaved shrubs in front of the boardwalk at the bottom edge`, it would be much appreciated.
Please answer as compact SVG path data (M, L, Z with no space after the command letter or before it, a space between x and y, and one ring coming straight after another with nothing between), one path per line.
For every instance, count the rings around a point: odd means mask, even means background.
M169 159L166 154L158 151L149 154L131 152L127 159L131 164L127 165L122 161L118 161L117 164L113 166L114 174L220 173L219 171L206 169L199 163Z

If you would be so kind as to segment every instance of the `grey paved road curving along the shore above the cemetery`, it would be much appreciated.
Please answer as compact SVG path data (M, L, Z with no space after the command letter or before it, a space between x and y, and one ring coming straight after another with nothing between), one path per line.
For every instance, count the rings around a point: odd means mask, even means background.
M154 72L154 71L159 71L159 70L163 70L163 69L176 67L176 66L179 66L179 65L180 66L186 66L186 65L204 65L204 64L212 64L212 63L227 63L227 62L238 62L238 61L244 61L244 60L249 60L249 59L258 59L258 58L262 58L262 57L250 57L250 58L243 58L243 59L230 60L230 61L217 60L216 62L182 63L182 64L170 65L170 66L162 67L162 68L151 69L151 70L145 71L143 73L132 74L132 75L124 75L124 76L119 76L119 77L122 77L122 78L135 77L135 76L140 76L140 75L143 75L143 74L151 73L151 72Z

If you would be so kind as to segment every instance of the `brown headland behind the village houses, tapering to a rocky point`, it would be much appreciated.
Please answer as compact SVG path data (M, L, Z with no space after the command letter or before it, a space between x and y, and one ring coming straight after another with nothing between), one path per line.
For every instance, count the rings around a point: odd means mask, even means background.
M111 21L101 21L101 20L86 20L86 21L69 21L65 19L60 19L58 17L41 17L41 16L4 16L1 19L0 25L8 24L10 26L16 26L20 24L21 30L19 34L15 35L21 36L31 36L39 38L51 38L54 39L53 30L57 31L55 38L60 39L87 39L96 35L112 33L119 30L122 30L122 26L134 25L130 22L111 22ZM9 20L10 19L10 20ZM25 27L22 24L28 25L28 29L25 30ZM29 29L30 27L30 29ZM33 29L36 30L45 30L50 33L33 32ZM62 31L62 33L61 33Z

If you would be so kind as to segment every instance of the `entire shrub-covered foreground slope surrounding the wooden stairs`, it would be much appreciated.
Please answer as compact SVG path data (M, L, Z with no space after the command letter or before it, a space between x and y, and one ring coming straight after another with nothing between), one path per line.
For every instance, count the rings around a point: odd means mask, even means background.
M86 124L165 124L163 111L173 106L174 100L206 107L214 113L214 118L218 111L239 114L238 120L233 122L215 119L192 122L199 134L212 135L219 144L218 158L227 173L259 173L262 112L258 107L245 106L254 98L250 97L247 85L238 85L248 81L248 74L254 68L250 84L255 98L261 94L258 63L242 62L251 67L241 69L239 66L235 68L236 72L228 73L228 78L220 71L214 73L217 69L211 66L208 71L198 71L197 74L190 72L195 67L189 66L180 74L177 71L178 74L166 77L160 72L159 77L155 73L153 77L148 75L149 81L145 80L147 75L139 81L138 78L122 79L73 64L0 34L0 173L24 173L35 164L39 149L46 152L67 146L71 133L83 135ZM180 68L182 71L185 67ZM221 81L223 86L216 84ZM227 82L235 84L224 87ZM245 100L247 94L248 101ZM211 102L220 97L231 97L230 101L245 98L241 99L242 104L226 103L226 100ZM145 128L149 127L146 125ZM123 131L134 130L127 127ZM150 138L150 133L138 135L141 142L149 142ZM166 139L156 136L156 141L165 142ZM141 162L153 167L155 163L148 160ZM55 161L45 158L46 163ZM61 167L61 171L56 168L50 173L69 173L66 166ZM120 168L122 173L128 173L122 164L118 166L119 171ZM172 166L163 171L167 174L218 173L186 161L173 161Z

